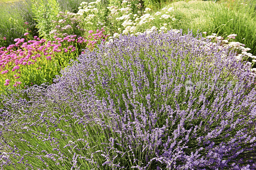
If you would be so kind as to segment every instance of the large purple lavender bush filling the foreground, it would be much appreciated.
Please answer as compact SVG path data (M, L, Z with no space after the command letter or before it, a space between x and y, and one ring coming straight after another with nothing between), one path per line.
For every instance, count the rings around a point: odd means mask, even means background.
M255 76L205 41L182 30L120 35L27 99L2 96L0 166L255 169Z

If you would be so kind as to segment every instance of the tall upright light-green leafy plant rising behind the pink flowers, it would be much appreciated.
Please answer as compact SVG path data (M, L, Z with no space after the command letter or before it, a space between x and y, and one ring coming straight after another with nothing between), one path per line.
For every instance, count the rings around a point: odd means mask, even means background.
M56 19L56 15L60 12L60 6L57 0L33 0L32 11L37 21L36 27L41 37L51 39L49 33L53 29L52 20Z

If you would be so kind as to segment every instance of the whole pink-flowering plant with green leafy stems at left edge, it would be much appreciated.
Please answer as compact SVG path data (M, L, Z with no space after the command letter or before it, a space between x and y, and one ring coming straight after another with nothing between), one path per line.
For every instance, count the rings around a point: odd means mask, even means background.
M55 37L46 41L15 39L15 44L0 48L0 86L24 88L32 84L52 82L55 75L66 67L70 59L76 59L78 51L72 44L79 42L75 35ZM8 80L8 81L6 81Z

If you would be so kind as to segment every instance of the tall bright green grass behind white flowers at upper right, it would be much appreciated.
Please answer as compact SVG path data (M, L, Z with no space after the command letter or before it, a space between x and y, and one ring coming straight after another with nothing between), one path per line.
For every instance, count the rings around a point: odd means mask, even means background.
M245 5L245 3L248 3ZM171 25L175 29L206 31L208 35L217 33L223 37L237 34L234 41L244 43L256 53L256 1L234 1L214 3L212 1L179 1L170 4L175 9L179 23ZM244 4L241 4L244 3Z

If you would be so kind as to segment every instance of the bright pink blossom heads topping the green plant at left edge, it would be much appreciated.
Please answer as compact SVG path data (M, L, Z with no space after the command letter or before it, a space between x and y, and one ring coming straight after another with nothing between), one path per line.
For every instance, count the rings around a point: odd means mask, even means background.
M81 41L81 39L78 39L76 35L68 35L64 38L56 36L54 38L55 41L48 42L45 39L38 38L37 36L34 37L34 40L29 40L28 42L25 42L24 38L17 38L14 40L16 42L15 44L11 44L7 48L1 47L0 76L8 77L4 85L8 86L11 80L11 82L15 82L13 86L16 87L20 84L20 81L14 80L26 76L21 75L22 73L19 71L21 67L33 65L37 62L38 58L42 58L43 56L47 60L52 60L52 57L55 57L56 54L62 57L61 53L74 52L76 51L74 44ZM10 70L12 71L10 72Z

